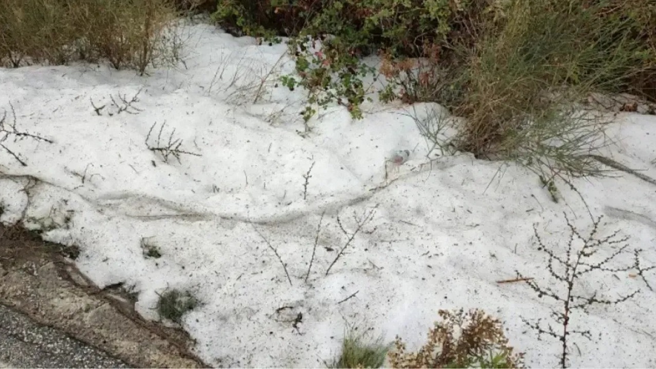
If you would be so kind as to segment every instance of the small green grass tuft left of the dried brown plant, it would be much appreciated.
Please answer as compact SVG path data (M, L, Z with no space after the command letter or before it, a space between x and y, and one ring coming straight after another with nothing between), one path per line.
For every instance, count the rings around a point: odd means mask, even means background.
M367 332L358 333L357 328L348 328L342 342L342 353L331 368L380 368L385 362L389 345L382 340L368 341Z

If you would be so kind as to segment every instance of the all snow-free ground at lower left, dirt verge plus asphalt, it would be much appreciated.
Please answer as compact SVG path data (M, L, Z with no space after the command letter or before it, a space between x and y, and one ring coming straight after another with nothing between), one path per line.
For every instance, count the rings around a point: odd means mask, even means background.
M75 247L0 224L0 368L200 368L183 330L143 320L120 285L100 290Z

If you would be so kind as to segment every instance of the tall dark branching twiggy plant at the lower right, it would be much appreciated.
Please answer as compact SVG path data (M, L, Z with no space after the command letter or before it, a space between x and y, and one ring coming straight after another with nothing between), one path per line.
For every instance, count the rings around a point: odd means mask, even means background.
M558 253L554 248L544 243L543 237L537 231L537 225L533 225L535 238L537 239L537 250L544 252L548 256L546 269L551 275L548 284L538 284L533 279L525 278L517 272L518 277L523 279L540 298L548 298L556 301L556 308L552 310L551 317L556 322L556 326L549 322L543 322L542 319L529 320L522 317L522 321L530 328L537 332L538 336L550 336L560 341L562 349L560 350L561 368L567 368L569 364L569 346L572 344L570 336L573 334L583 336L592 340L590 330L575 330L572 328L572 317L577 316L575 311L586 312L592 305L606 305L613 307L618 303L629 300L636 296L640 290L633 290L621 294L615 298L602 298L598 292L584 294L579 291L581 281L587 277L588 281L598 280L604 273L614 274L623 271L637 270L638 275L646 282L644 272L653 269L640 265L640 250L634 250L634 263L632 265L623 265L613 267L610 263L621 254L629 254L627 248L629 244L628 237L619 237L619 231L615 231L606 237L599 237L599 225L602 217L596 218L592 223L592 229L589 233L582 233L571 223L567 214L565 221L569 228L569 239L564 253ZM612 250L610 254L602 255L602 248ZM603 284L605 286L605 284ZM647 284L647 288L649 288Z

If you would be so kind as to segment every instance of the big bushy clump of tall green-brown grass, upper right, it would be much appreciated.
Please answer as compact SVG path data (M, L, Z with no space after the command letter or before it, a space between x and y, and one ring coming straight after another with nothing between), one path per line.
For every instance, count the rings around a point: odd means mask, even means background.
M502 21L483 25L474 47L460 45L457 73L442 73L442 85L457 93L439 94L466 117L457 148L514 160L548 178L599 174L587 154L603 144L609 119L581 102L592 92L626 90L646 70L634 23L604 10L510 0Z

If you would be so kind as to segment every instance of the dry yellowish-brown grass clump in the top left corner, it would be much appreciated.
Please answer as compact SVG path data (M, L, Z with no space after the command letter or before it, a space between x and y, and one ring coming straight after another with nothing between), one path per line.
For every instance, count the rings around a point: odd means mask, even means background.
M108 60L144 73L177 61L180 39L170 31L174 0L3 0L0 66Z

